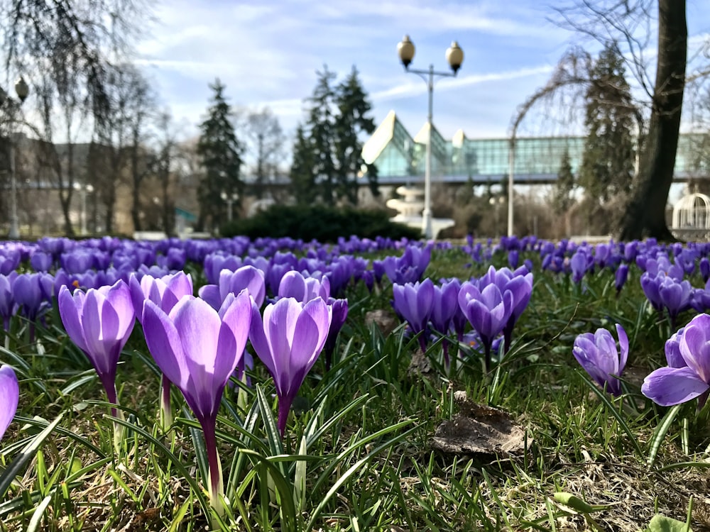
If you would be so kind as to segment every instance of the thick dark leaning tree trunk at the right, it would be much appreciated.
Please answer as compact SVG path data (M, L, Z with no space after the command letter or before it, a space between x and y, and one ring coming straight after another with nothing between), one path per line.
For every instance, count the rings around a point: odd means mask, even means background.
M685 0L658 1L658 58L648 135L637 182L621 219L621 240L673 240L665 208L680 131L685 87L688 29Z

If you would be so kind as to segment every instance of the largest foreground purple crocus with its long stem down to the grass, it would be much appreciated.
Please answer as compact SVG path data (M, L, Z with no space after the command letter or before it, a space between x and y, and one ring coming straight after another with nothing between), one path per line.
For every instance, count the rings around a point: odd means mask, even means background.
M216 311L200 298L184 296L169 314L147 300L143 332L160 370L180 389L202 426L209 462L209 499L222 514L222 466L215 434L224 386L244 353L251 321L246 291L227 295Z

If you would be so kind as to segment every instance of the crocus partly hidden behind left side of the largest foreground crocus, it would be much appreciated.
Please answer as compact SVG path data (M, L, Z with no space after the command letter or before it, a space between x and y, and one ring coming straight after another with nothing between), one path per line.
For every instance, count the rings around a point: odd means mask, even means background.
M173 275L164 275L158 279L151 275L143 275L139 282L136 274L131 273L129 289L136 318L140 323L143 323L143 304L146 300L153 301L167 314L182 297L192 295L192 277L185 272L175 272ZM173 424L170 379L165 373L160 379L160 421L162 421L165 431Z

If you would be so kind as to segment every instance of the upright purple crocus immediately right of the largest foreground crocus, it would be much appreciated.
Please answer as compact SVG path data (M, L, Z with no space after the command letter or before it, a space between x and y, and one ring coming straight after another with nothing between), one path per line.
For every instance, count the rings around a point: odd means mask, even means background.
M249 340L273 377L282 437L293 399L323 349L331 321L332 307L320 297L305 304L293 297L279 299L266 306L263 319L252 304Z

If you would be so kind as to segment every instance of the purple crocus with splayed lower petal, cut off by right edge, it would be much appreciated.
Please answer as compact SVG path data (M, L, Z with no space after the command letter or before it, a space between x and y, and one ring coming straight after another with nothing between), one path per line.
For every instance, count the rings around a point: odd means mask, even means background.
M667 345L667 367L660 367L643 379L641 393L661 406L697 397L701 409L710 395L710 316L695 316L678 331L675 340L669 341L673 343Z

